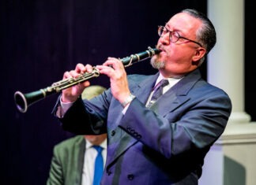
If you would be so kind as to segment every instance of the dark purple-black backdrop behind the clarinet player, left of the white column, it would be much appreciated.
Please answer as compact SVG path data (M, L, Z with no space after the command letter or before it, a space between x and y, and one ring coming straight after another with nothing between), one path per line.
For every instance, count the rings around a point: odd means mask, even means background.
M15 91L28 93L62 80L77 63L102 64L154 47L157 25L185 8L206 13L205 0L0 0L1 184L45 184L55 144L70 138L51 115L58 94L20 113ZM205 65L201 68L206 79ZM155 73L148 61L127 73ZM109 87L106 76L92 84Z

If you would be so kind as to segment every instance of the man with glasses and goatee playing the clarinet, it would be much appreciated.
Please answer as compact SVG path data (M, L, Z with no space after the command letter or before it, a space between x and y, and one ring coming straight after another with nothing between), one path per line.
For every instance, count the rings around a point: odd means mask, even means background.
M62 91L53 109L67 131L107 133L102 185L197 185L205 155L228 123L231 99L199 70L216 43L212 22L183 9L158 27L158 35L155 75L127 76L122 61L108 57L96 65L110 79L107 91L82 101L90 85L85 80ZM77 64L63 79L84 72L92 65Z

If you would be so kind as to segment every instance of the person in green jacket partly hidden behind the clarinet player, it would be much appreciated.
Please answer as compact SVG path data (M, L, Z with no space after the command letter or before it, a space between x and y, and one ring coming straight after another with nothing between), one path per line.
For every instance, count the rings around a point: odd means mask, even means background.
M101 86L90 86L82 93L83 99L90 99L103 93ZM107 156L107 134L77 135L54 147L47 185L94 185L94 166L97 155L92 146L101 146L104 164ZM100 181L100 180L99 180Z

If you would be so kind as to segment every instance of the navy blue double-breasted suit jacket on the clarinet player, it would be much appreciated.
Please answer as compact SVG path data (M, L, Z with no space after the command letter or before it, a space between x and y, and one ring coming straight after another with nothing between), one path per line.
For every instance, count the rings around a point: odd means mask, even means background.
M90 101L78 99L59 119L63 129L74 133L107 131L103 185L198 184L205 154L228 122L231 100L202 80L197 69L147 109L158 75L128 77L136 98L125 115L107 90Z

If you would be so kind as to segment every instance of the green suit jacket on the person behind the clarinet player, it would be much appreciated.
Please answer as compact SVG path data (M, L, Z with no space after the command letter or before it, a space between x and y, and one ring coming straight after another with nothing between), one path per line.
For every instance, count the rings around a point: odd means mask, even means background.
M77 135L54 147L47 185L81 185L85 138Z

